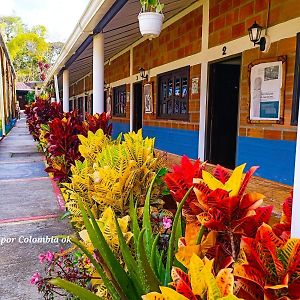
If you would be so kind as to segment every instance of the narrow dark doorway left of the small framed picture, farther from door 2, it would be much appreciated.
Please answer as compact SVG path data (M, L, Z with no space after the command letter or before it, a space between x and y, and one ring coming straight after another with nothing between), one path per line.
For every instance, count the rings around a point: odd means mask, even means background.
M143 84L137 82L133 85L133 131L137 132L143 127Z

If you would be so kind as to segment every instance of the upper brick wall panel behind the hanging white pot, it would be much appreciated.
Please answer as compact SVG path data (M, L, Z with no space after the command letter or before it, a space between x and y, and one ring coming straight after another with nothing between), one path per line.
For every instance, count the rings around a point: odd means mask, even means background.
M165 28L152 41L144 41L133 49L133 73L181 59L201 51L202 7Z

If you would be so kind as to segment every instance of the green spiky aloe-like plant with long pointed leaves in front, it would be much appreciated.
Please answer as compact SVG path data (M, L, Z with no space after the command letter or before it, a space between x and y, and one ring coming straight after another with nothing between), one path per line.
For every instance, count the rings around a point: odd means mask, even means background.
M120 264L118 260L119 255L116 257L113 250L109 247L109 244L107 243L99 224L95 220L93 213L88 207L86 210L83 203L79 200L79 206L86 230L93 247L97 249L94 251L96 258L89 252L82 242L74 238L72 241L94 264L96 271L101 276L112 299L140 299L142 295L147 294L150 291L158 292L160 285L167 285L171 281L171 267L174 261L174 251L177 243L176 239L178 239L181 235L179 223L181 209L188 197L188 194L191 192L191 189L178 206L173 222L166 264L164 264L163 253L159 253L156 247L159 236L155 236L153 234L150 221L150 198L154 181L155 178L152 180L147 192L142 228L139 227L137 207L134 205L133 197L131 197L130 217L135 254L132 253L132 249L127 245L120 225L115 220L119 247L127 271ZM54 280L51 281L51 283L76 294L75 287L69 283L60 280ZM82 292L82 290L80 291ZM89 294L87 292L85 295L86 298L82 299L88 299L88 295Z

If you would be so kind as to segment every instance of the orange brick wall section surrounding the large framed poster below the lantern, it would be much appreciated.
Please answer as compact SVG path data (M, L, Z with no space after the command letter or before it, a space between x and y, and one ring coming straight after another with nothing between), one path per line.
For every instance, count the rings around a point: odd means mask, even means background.
M243 53L239 136L274 140L296 140L297 127L290 125L294 84L295 52L296 37L293 37L272 43L268 53L262 53L258 50L258 48L247 50ZM249 124L247 122L250 102L248 65L257 59L275 58L281 55L287 55L287 72L284 94L284 124Z

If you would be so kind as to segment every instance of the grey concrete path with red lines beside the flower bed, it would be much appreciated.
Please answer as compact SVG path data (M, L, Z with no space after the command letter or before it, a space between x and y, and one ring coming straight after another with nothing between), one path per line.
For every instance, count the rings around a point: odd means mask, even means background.
M29 242L71 232L60 220L61 196L36 146L24 117L0 142L0 300L43 299L29 283L43 272L39 254L70 246Z

